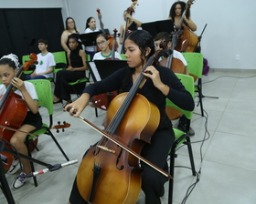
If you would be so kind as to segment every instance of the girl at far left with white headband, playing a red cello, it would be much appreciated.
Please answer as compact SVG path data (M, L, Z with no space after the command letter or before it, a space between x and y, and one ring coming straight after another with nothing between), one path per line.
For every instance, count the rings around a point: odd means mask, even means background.
M17 68L18 58L16 55L9 54L0 59L0 81L3 83L0 85L0 95L5 94L6 87L10 84L15 87L14 92L21 96L27 103L27 116L19 130L31 132L32 130L42 126L42 118L38 112L37 92L33 84L27 81L24 82L20 78L15 77ZM15 132L10 140L11 144L17 149L17 151L24 155L27 155L27 147L24 143L24 139L26 137L26 133ZM22 187L27 181L27 178L24 178L24 176L31 173L29 161L21 158L21 163L23 165L23 170L13 182L14 189ZM15 174L18 169L18 160L14 160L9 172Z

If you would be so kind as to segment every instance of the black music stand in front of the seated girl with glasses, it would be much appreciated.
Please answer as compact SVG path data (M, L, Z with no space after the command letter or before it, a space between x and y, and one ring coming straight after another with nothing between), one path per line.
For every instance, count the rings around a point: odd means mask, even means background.
M88 62L88 67L91 73L91 77L94 82L101 81L107 76L112 75L115 71L124 66L127 66L126 60L94 60L93 62Z

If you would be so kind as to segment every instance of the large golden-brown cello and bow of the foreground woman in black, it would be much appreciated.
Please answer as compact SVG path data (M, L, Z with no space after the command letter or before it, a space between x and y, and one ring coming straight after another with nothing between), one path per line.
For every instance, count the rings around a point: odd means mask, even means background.
M154 60L157 62L157 57L151 56L144 69ZM144 142L150 141L160 120L158 108L137 94L143 82L141 73L128 93L112 100L104 122L105 130L97 128L103 134L101 141L91 147L81 161L77 187L82 198L90 203L101 204L107 200L112 204L133 204L141 190L139 159L159 170L139 156Z

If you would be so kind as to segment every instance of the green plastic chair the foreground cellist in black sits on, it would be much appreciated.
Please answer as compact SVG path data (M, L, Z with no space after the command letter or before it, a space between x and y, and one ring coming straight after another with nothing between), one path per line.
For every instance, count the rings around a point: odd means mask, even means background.
M195 89L194 89L194 78L192 76L187 76L183 74L176 74L176 76L181 80L181 83L183 86L187 89L187 91L191 94L192 97L195 96ZM193 111L187 111L184 109L181 109L180 107L177 107L172 101L170 101L168 98L166 98L166 107L175 107L179 111L181 111L186 117L187 117L187 132L190 127L190 120L193 116ZM176 155L176 148L179 147L181 144L187 145L188 155L190 159L191 169L192 169L192 175L196 176L196 168L193 158L193 152L191 147L190 138L187 135L187 132L180 131L176 128L174 129L175 133L175 142L172 146L172 148L169 150L169 156L170 156L170 175L174 177L174 171L175 171L175 158ZM169 197L168 197L168 203L172 203L173 200L173 188L174 188L174 180L170 179L169 181Z

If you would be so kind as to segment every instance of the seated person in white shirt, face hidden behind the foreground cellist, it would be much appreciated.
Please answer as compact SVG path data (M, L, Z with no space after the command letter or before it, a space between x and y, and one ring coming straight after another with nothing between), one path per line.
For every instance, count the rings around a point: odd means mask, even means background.
M158 33L158 34L155 36L155 46L156 46L156 49L157 49L157 50L162 49L162 48L160 48L160 46L159 46L162 41L165 41L165 43L166 43L166 45L167 45L166 49L169 49L169 48L172 46L171 37L169 36L169 34L166 33L166 32L161 32L161 33ZM184 69L184 70L185 70L184 74L187 74L187 75L188 75L187 61L186 61L186 59L184 58L184 56L183 56L180 52L178 52L178 51L176 51L176 50L173 50L173 57L174 57L174 58L178 58L179 60L181 60L181 61L183 62L183 65L184 65L184 68L185 68L185 69ZM159 62L159 64L160 64L161 66L166 66L166 63L167 63L167 58L164 58L164 59L162 59L162 60ZM183 116L180 117L180 119L179 119L179 123L178 123L177 128L180 129L180 130L182 130L182 131L185 131L185 132L186 132L186 129L187 129L187 128L186 128L186 124L187 124L187 117L185 117L185 116L183 115ZM194 129L190 127L187 134L188 134L189 136L194 136L194 135L195 135Z

